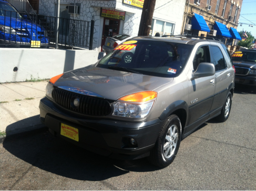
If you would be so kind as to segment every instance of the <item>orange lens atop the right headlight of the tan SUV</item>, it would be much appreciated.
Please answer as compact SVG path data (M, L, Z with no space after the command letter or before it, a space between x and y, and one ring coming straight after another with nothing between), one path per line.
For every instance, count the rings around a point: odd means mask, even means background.
M157 97L157 93L154 91L138 92L135 94L127 95L119 100L130 101L130 102L146 102Z

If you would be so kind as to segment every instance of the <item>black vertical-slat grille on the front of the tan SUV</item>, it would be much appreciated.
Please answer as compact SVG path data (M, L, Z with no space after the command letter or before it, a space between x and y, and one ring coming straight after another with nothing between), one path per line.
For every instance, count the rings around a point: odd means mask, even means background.
M91 116L104 116L111 112L111 105L108 100L73 93L60 88L52 91L52 97L56 103L68 110ZM77 108L72 107L72 100L79 98L80 104Z

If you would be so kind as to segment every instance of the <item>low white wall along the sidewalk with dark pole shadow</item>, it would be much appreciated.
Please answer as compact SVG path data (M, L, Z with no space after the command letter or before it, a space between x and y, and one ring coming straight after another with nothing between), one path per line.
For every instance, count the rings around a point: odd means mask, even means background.
M0 83L50 79L97 60L98 51L92 50L0 48Z

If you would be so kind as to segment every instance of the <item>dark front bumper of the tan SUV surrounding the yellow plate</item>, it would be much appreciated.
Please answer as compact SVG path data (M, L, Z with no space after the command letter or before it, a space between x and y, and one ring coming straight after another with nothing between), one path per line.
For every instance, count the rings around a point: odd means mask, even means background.
M149 155L154 147L163 121L117 121L93 118L71 112L49 98L40 100L40 119L55 136L92 152L118 159L137 159ZM60 124L79 130L79 142L60 135ZM133 146L130 138L138 143Z

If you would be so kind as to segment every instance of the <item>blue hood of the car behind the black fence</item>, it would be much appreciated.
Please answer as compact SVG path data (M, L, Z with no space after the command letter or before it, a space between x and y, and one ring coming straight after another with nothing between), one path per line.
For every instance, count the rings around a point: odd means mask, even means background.
M5 25L5 26L10 26L12 28L16 28L16 29L27 29L28 31L31 31L31 29L34 31L34 30L37 30L38 32L42 32L44 31L45 29L34 23L34 22L31 22L29 20L26 20L26 19L19 19L19 18L10 18L10 17L5 17L4 19L4 16L0 16L0 24L1 25Z

